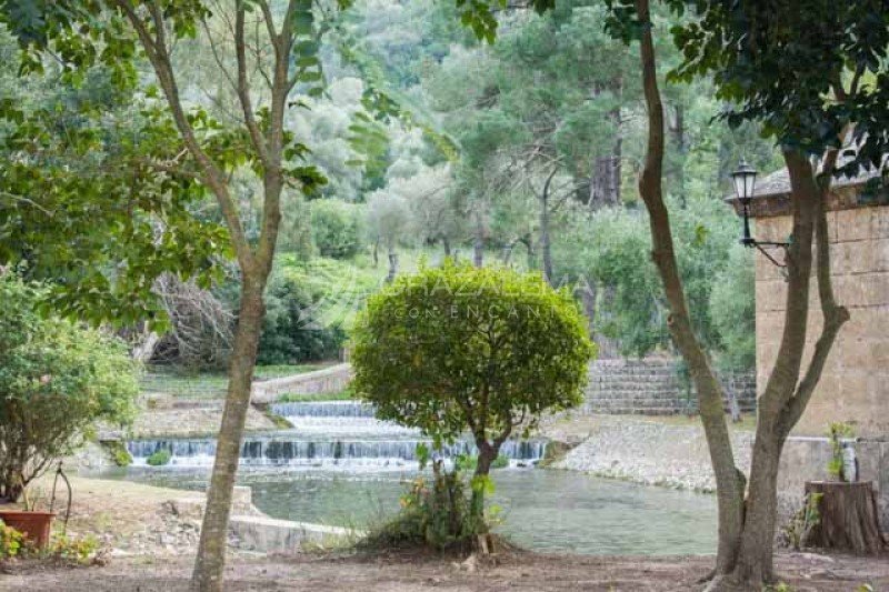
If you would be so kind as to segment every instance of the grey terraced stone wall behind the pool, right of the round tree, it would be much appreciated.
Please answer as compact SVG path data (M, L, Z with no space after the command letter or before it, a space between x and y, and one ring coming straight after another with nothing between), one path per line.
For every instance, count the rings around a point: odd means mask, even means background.
M681 384L677 362L670 359L596 360L581 413L672 415L693 413L697 397ZM727 375L723 385L738 398L741 411L756 409L752 373Z

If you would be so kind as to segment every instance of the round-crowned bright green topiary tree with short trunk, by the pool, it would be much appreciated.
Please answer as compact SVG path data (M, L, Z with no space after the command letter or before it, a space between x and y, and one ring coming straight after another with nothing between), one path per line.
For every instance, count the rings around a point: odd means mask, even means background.
M478 518L500 446L527 437L545 411L580 403L595 351L567 290L540 274L449 261L368 300L353 331L354 388L380 419L434 444L471 435Z

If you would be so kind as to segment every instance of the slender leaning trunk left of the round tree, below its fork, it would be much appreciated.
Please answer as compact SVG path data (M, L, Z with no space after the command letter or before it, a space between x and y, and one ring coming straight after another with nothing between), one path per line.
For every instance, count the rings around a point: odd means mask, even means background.
M250 385L266 310L262 301L266 280L267 275L253 278L246 274L241 284L241 307L229 365L229 387L217 440L212 478L207 490L207 509L192 579L192 588L202 592L222 590L234 475L250 407Z

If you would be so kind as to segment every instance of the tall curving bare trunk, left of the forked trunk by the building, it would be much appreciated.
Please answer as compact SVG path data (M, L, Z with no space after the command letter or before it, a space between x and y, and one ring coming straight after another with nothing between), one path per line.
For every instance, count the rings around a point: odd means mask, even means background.
M743 524L743 475L735 465L728 425L722 407L722 388L710 368L707 354L691 327L686 294L673 252L670 219L663 202L663 104L658 89L655 44L651 34L649 0L636 0L636 12L643 27L640 37L642 88L648 109L648 144L639 178L639 193L649 213L652 259L663 283L670 310L668 327L673 342L688 363L703 423L717 482L719 545L717 572L735 568Z

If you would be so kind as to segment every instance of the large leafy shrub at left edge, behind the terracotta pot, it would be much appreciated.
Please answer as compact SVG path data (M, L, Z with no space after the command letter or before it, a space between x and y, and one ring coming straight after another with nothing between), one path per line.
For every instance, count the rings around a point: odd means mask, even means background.
M43 298L40 287L0 275L0 498L13 501L97 421L129 422L138 393L123 343L41 317Z

